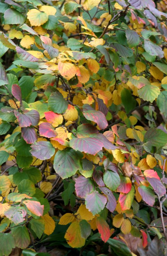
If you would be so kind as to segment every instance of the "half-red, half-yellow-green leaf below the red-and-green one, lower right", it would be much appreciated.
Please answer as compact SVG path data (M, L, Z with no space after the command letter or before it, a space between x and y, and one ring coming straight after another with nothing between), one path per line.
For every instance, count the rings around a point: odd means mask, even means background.
M134 198L134 187L132 186L131 191L128 194L120 193L119 203L122 211L129 210L133 203Z

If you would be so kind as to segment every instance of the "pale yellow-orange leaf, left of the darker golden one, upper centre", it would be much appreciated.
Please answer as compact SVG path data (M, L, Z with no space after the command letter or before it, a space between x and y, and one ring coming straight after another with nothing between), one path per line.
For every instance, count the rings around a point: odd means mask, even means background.
M76 67L70 62L58 62L58 71L67 80L70 80L76 74Z

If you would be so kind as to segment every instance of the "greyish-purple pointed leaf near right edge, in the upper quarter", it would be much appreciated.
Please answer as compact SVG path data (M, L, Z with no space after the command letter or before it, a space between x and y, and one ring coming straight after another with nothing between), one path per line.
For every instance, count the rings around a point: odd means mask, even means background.
M164 52L162 48L157 45L152 43L151 41L144 40L144 49L146 52L148 52L151 56L159 56L159 58L163 58Z

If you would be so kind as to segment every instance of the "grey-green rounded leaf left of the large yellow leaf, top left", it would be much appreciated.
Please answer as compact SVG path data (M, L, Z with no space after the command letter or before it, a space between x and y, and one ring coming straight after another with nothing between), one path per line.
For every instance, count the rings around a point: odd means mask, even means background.
M22 24L26 20L26 17L13 8L7 9L4 12L5 24Z

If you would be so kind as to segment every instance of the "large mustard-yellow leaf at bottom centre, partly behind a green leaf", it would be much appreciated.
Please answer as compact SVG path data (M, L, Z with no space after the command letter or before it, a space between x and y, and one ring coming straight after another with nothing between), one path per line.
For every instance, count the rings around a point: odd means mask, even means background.
M65 233L65 239L72 248L79 248L84 246L85 238L81 237L80 224L73 222Z

